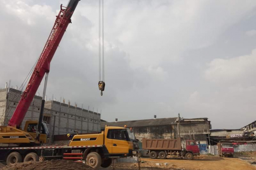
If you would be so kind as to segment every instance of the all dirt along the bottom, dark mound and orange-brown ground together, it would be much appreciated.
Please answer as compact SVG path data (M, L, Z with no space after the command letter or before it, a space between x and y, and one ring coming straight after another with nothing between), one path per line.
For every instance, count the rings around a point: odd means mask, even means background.
M201 155L194 160L183 159L149 159L141 158L141 170L256 170L256 166L250 164L255 162L254 158L226 158L219 156ZM160 163L159 166L156 163ZM164 163L168 163L167 166ZM2 166L2 167L1 167ZM15 166L0 165L0 170L93 170L82 163L65 160L51 160L44 162L25 162ZM113 164L109 168L100 170L112 170ZM138 163L115 163L115 170L138 169Z

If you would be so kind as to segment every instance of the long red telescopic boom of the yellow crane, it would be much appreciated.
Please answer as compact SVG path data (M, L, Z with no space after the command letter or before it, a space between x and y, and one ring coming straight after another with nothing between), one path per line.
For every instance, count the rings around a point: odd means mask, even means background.
M36 94L36 91L45 75L50 71L50 62L53 55L67 29L69 23L71 23L71 16L80 0L70 0L67 7L60 6L60 12L56 16L56 20L50 36L44 46L44 49L38 59L38 62L34 68L32 76L28 82L28 85L23 92L19 104L17 105L12 118L8 125L13 127L20 127L28 108ZM43 99L44 100L44 99ZM41 108L42 109L42 108Z

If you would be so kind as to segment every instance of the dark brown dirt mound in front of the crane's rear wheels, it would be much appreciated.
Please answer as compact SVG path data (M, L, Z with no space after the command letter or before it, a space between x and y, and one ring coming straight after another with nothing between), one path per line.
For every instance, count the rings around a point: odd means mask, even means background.
M43 162L23 162L14 166L5 166L0 170L94 170L93 168L74 161L51 160Z

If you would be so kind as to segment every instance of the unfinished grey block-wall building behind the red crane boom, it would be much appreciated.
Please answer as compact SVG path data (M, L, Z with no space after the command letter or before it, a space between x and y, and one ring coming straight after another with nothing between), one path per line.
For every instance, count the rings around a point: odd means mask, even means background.
M13 88L0 90L0 125L6 126L20 100L21 91ZM26 120L38 120L42 97L35 96L28 112L21 124L24 127ZM44 121L50 125L50 133L67 134L98 132L100 131L100 114L88 111L77 106L57 101L46 101Z

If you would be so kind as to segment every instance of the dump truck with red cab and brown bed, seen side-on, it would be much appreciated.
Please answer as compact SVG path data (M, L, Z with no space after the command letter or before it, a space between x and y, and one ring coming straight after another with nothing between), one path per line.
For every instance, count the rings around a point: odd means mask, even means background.
M151 159L166 159L166 157L193 159L194 156L200 155L200 150L195 140L186 140L183 147L181 138L177 139L142 139L142 148L149 150L148 154Z

